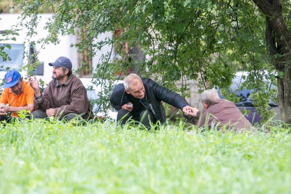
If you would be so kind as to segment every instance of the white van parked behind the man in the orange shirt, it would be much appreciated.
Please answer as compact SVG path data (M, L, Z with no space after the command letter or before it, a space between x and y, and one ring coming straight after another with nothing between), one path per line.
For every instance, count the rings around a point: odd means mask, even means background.
M34 42L28 42L24 30L17 31L17 35L11 33L12 25L17 25L18 15L0 14L0 52L6 53L7 60L0 56L0 77L3 79L7 70L20 70L24 79L28 75L37 75L39 80L43 80L43 63L35 60L36 48ZM3 56L3 55L2 55ZM37 63L35 69L28 68ZM24 71L22 71L24 69ZM32 71L28 72L28 69Z

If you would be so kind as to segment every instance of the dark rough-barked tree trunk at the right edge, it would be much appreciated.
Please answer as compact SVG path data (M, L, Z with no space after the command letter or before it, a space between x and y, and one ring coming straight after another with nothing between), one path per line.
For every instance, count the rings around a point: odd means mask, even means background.
M278 72L283 72L278 79L278 105L280 118L291 123L291 35L283 21L280 0L253 0L266 15L266 43L272 58L272 64ZM274 33L275 32L275 33ZM282 55L278 57L278 54ZM277 55L276 57L274 55Z

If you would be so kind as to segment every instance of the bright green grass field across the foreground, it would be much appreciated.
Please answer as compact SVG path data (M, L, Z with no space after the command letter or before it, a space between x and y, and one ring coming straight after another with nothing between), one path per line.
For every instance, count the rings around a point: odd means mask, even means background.
M291 138L31 121L0 128L1 193L291 193ZM290 129L289 129L290 131Z

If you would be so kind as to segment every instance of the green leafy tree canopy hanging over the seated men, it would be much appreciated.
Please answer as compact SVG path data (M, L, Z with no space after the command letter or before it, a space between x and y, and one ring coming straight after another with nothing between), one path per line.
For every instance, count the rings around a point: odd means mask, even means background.
M104 45L111 45L111 51L94 64L95 78L120 79L118 72L125 72L129 66L185 96L189 96L187 80L198 80L201 89L225 88L225 95L237 101L228 87L234 70L243 70L250 74L241 87L260 91L253 95L258 105L266 107L271 96L276 99L274 92L262 89L266 78L274 82L275 74L267 54L265 15L252 1L14 0L13 4L23 9L22 19L31 18L24 24L30 29L30 36L37 33L39 10L53 11L46 24L49 34L40 41L57 43L59 35L79 36L79 42L71 46L76 46L78 52L89 51L89 58ZM290 9L289 1L284 1L283 9ZM112 37L94 41L108 31ZM128 60L123 46L126 41L130 48L138 45L148 57ZM185 86L178 89L175 83L180 80ZM95 84L101 82L102 79L95 80ZM112 86L104 86L100 101L108 101ZM262 113L270 115L266 109Z

